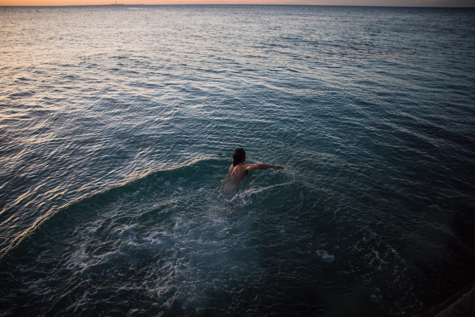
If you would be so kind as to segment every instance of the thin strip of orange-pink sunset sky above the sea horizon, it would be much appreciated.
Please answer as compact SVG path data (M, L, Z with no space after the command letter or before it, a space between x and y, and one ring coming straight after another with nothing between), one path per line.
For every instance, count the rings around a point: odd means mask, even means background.
M115 0L0 0L0 6L103 5ZM475 0L118 0L123 4L307 4L396 7L475 7Z

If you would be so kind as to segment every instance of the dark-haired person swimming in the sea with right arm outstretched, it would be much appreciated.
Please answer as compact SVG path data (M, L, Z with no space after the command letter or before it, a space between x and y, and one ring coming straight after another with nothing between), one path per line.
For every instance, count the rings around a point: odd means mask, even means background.
M245 164L246 161L246 152L244 149L238 147L233 152L233 164L229 167L228 175L223 182L221 191L226 196L231 196L237 193L237 185L239 182L247 175L249 171L252 170L266 170L268 168L273 168L275 170L280 170L284 168L280 165L269 165L269 164Z

